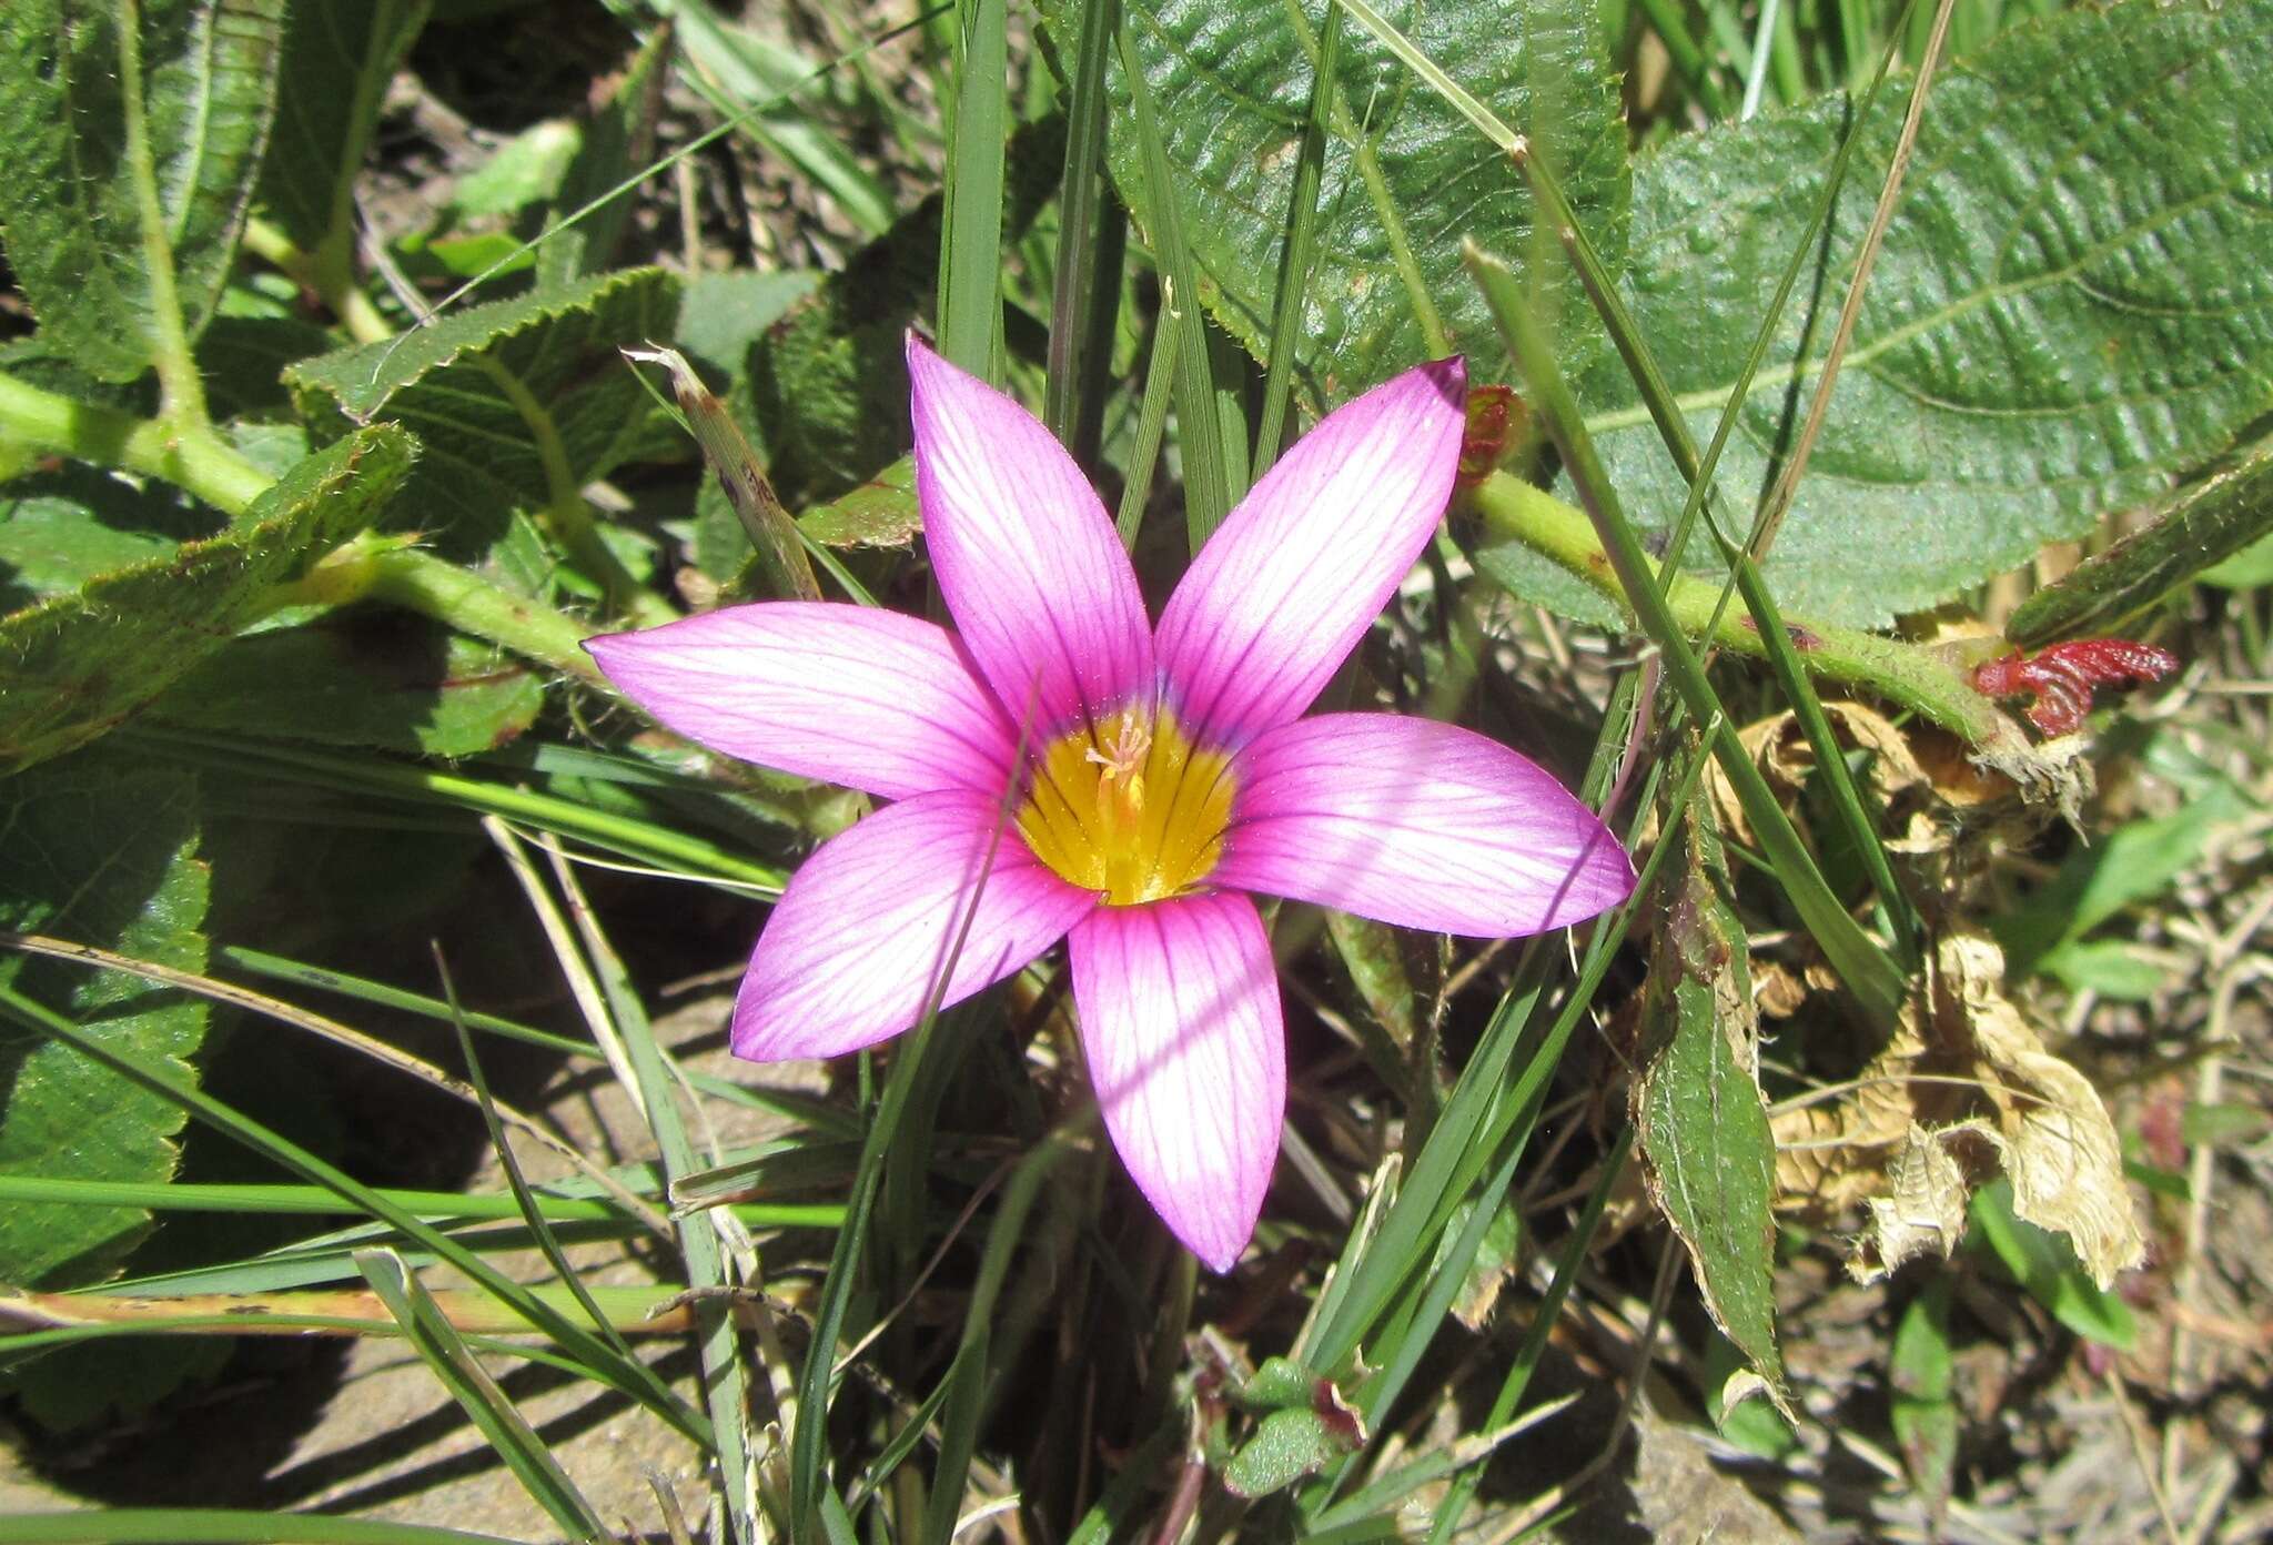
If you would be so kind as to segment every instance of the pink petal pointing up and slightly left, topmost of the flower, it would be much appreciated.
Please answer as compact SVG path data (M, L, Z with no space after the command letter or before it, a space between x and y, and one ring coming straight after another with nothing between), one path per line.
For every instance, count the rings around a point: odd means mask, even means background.
M907 341L923 538L955 627L1036 734L1152 693L1136 570L1073 457L1023 407Z

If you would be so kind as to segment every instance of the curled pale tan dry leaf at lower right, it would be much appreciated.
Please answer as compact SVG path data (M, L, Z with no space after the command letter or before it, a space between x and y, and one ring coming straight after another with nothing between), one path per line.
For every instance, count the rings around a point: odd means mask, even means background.
M1980 934L1943 936L1923 1011L1912 1004L1837 1104L1777 1113L1775 1138L1780 1204L1868 1206L1848 1263L1864 1279L1948 1254L1996 1168L2014 1213L2066 1234L2103 1288L2146 1256L2107 1106L2005 995L2005 954Z

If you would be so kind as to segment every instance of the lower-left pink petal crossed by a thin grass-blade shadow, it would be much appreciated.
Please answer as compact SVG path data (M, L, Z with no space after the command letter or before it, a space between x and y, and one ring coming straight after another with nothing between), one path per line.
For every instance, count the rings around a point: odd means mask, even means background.
M789 882L734 1000L734 1054L836 1057L923 1016L964 913L984 886L943 1004L957 1004L1057 943L1098 897L1002 832L1000 802L925 793L823 843ZM986 847L993 843L993 868Z

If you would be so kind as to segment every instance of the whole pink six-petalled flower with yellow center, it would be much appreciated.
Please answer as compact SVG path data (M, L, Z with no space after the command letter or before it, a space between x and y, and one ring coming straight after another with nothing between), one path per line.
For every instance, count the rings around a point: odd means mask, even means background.
M907 368L923 529L959 634L761 602L586 648L671 729L891 800L773 909L734 1004L739 1057L836 1057L909 1029L964 913L950 1004L1066 938L1105 1129L1168 1229L1230 1270L1287 1102L1248 891L1509 936L1634 884L1587 807L1496 741L1300 718L1437 529L1466 373L1421 366L1327 416L1152 627L1048 429L914 339Z

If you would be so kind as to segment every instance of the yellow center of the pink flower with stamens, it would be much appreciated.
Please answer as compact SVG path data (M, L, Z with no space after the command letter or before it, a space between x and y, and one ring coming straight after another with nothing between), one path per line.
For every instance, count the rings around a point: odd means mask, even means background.
M1230 818L1230 757L1143 707L1073 729L1034 759L1018 834L1068 884L1134 907L1207 879Z

